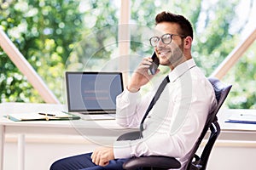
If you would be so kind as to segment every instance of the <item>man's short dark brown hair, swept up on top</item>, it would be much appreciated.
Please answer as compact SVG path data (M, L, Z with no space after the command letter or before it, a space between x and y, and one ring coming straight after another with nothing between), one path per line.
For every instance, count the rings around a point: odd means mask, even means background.
M193 39L193 28L189 20L187 20L183 15L179 14L172 14L170 12L161 12L160 14L157 14L155 17L155 24L159 24L161 22L172 22L176 23L180 26L179 32L181 35L185 37L192 37Z

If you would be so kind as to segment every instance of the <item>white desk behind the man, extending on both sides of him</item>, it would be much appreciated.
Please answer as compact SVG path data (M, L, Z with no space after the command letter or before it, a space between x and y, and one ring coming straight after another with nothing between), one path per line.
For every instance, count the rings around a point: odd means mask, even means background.
M4 143L7 134L18 134L18 168L25 169L25 138L26 134L61 134L83 136L92 142L111 144L121 133L131 132L134 129L119 127L115 121L57 121L57 122L12 122L4 118L8 113L25 113L34 111L66 111L64 105L51 104L25 104L3 103L0 104L0 170L3 170ZM232 144L232 142L246 141L256 147L256 125L225 123L232 114L251 113L255 110L226 110L218 113L218 120L222 129L218 144ZM97 138L100 137L100 138ZM99 140L100 139L100 140ZM230 143L229 143L230 142Z

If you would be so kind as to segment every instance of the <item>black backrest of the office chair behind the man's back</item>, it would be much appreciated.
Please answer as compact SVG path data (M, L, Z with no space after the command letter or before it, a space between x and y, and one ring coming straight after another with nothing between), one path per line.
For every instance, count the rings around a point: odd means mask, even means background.
M216 106L214 111L209 113L209 115L207 116L207 122L205 124L205 127L203 128L201 136L197 140L195 147L189 157L187 170L206 169L207 161L210 156L213 144L215 143L216 139L218 138L218 134L220 133L220 127L218 125L218 119L216 115L221 105L223 105L227 95L230 93L230 88L232 87L232 85L224 85L224 83L220 82L217 78L214 77L209 77L208 80L212 83L218 105ZM209 128L211 130L211 135L207 141L207 144L202 151L201 156L196 156L195 153L198 150L201 141L202 139L204 139Z

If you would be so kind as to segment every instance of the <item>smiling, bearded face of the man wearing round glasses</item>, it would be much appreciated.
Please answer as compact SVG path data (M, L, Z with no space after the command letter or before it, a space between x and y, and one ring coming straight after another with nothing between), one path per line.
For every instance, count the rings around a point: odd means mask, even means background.
M180 27L176 23L162 22L155 26L157 37L162 37L164 34L180 35L178 30ZM156 54L160 59L161 65L170 66L171 69L183 62L183 37L172 36L172 42L166 44L161 40L155 47Z

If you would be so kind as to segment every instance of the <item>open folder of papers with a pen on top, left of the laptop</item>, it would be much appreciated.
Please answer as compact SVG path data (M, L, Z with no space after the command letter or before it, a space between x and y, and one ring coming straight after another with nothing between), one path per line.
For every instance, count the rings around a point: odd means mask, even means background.
M80 117L63 111L45 111L9 114L5 116L9 120L18 121L62 121L62 120L77 120Z

